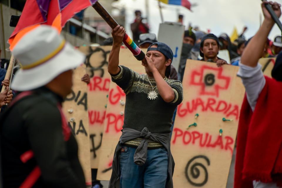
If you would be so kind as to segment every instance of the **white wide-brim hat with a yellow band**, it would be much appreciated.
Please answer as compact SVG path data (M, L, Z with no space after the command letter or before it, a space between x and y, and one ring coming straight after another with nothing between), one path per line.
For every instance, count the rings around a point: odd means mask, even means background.
M41 25L25 34L12 54L21 64L11 83L16 91L27 91L48 84L59 74L74 69L85 56L68 44L51 26Z

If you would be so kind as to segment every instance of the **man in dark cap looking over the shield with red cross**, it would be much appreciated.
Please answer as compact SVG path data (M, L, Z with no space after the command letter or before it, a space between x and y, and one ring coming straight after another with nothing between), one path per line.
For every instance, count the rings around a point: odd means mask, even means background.
M219 52L219 39L214 34L206 34L202 37L200 44L201 61L209 61L216 63L217 66L227 64L223 59L217 57Z

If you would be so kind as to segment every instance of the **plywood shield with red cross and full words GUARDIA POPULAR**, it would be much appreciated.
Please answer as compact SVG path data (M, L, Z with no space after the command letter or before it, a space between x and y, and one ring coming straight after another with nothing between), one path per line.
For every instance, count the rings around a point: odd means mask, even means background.
M187 60L171 139L174 187L226 187L245 92L238 69Z

